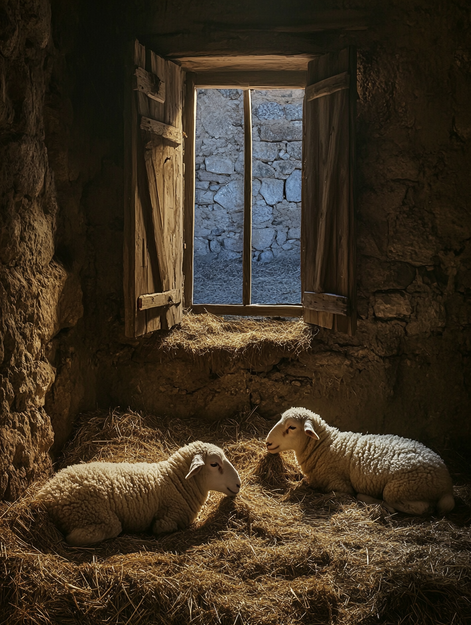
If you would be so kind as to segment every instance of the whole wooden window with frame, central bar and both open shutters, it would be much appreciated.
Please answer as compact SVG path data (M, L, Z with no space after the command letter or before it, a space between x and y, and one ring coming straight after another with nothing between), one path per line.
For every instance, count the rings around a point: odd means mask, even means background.
M355 332L354 122L356 52L352 47L308 63L285 59L270 69L182 71L136 42L126 85L124 293L126 334L139 336L195 312L303 316ZM256 58L255 58L256 59ZM187 70L201 67L180 59ZM204 61L203 61L204 63ZM268 61L267 61L268 63ZM304 65L307 59L304 59ZM301 209L302 305L250 302L250 89L306 88ZM245 184L243 304L193 305L196 88L244 89ZM183 146L185 153L183 154ZM183 170L185 185L183 186ZM182 304L183 302L183 304Z

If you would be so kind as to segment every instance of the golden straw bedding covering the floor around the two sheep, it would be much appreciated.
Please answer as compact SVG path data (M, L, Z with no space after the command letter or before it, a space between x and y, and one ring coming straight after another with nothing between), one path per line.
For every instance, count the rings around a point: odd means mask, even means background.
M243 489L211 493L185 531L73 548L34 504L36 485L0 508L0 623L471 622L469 486L443 519L390 516L311 489L290 454L263 451L269 427L255 414L209 425L82 416L61 467L158 461L199 438L225 447Z

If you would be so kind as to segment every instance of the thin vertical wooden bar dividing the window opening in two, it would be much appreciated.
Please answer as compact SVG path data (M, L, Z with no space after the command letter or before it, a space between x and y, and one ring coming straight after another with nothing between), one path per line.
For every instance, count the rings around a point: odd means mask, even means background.
M244 91L244 239L242 302L251 303L252 287L252 105L250 89Z

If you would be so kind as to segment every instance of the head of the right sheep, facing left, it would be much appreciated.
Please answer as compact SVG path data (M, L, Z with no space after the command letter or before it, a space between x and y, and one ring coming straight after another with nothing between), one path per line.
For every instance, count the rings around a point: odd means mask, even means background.
M320 416L305 408L290 408L283 412L280 421L268 432L265 439L266 449L270 454L294 449L298 451L306 445L306 436L319 440L316 432ZM322 421L322 420L321 420Z

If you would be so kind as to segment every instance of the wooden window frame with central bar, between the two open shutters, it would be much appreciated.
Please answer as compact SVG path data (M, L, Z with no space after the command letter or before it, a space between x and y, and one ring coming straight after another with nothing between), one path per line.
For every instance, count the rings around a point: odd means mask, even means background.
M183 276L184 301L195 313L234 316L302 317L300 304L252 304L252 116L251 89L305 89L307 72L283 69L255 71L203 71L186 73L183 109L183 132L185 133L185 173L183 205ZM195 233L195 143L196 143L196 89L241 89L244 106L244 225L242 254L242 304L194 304L193 303L193 241ZM304 145L304 140L303 140Z

